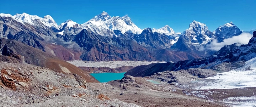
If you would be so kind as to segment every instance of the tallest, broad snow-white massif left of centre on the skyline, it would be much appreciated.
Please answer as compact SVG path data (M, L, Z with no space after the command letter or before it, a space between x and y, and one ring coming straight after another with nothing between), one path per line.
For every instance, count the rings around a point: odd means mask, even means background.
M142 32L127 15L111 17L107 12L102 12L81 25L85 29L91 29L94 33L110 37L114 35L114 30L119 30L122 34L125 32L140 34Z

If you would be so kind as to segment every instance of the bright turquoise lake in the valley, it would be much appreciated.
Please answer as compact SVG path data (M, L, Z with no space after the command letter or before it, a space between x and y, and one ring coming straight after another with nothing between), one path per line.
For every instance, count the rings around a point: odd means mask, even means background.
M105 83L112 80L122 79L124 77L124 73L90 73L95 79L100 81L101 83Z

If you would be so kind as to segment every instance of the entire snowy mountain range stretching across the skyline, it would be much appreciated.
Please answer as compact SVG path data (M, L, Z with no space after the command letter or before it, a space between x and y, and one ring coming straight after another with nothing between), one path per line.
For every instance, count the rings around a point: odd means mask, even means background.
M58 36L61 39L65 36L65 38L69 38L68 40L71 40L73 37L68 35L76 35L79 34L82 29L86 29L95 34L110 38L117 37L133 40L145 47L153 47L157 49L172 48L179 51L204 53L204 55L206 55L205 53L207 52L202 52L201 47L206 46L214 39L221 42L223 39L240 35L242 33L242 31L232 22L218 27L213 32L208 29L206 24L197 21L192 21L188 29L181 34L175 33L168 25L159 29L146 28L142 30L138 28L127 15L123 17L111 17L107 12L102 12L83 24L67 20L58 25L49 15L41 18L36 15L28 15L27 13L16 14L14 16L1 13L0 17L11 17L22 24L26 23L36 27L37 29L42 28L40 31L45 35L47 34L47 28L43 27L41 25L42 23L44 26L49 27L53 32L63 35ZM254 30L247 32L252 33L253 31ZM44 37L44 35L42 35L42 39L51 40L50 38ZM51 33L50 35L53 34ZM7 37L7 34L4 34L4 36ZM1 35L1 37L4 36Z

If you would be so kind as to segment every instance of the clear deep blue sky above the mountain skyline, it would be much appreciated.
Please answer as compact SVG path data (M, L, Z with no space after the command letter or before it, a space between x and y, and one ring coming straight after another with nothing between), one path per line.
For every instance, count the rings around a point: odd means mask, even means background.
M232 21L241 30L256 29L256 0L9 0L1 1L0 13L50 15L60 24L71 19L79 24L106 11L110 16L128 15L141 29L168 24L182 32L193 21L211 31Z

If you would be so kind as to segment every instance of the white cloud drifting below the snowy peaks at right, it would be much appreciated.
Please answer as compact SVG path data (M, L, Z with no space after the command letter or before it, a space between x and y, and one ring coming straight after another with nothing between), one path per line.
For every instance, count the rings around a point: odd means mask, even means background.
M238 36L233 36L231 38L224 39L223 42L218 43L217 40L213 40L210 44L206 45L206 49L218 51L225 45L231 45L234 43L248 44L251 39L252 34L242 33Z

